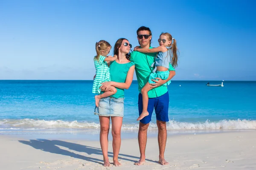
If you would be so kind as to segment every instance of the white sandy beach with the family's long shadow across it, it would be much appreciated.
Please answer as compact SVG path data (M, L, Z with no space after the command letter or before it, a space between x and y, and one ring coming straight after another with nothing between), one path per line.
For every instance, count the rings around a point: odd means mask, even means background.
M157 138L148 139L146 163L134 165L139 159L137 139L122 140L121 167L102 166L99 141L18 139L0 136L1 170L255 170L256 131L224 132L169 136L166 161L157 163ZM109 157L113 156L109 142ZM113 162L113 161L111 161Z

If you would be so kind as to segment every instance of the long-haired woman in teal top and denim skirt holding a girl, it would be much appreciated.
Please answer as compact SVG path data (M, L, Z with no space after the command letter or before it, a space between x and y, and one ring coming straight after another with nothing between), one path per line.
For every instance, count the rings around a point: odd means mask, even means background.
M102 148L104 166L109 167L108 159L108 132L109 122L112 122L113 136L113 164L120 166L118 154L121 146L121 127L124 116L124 89L131 85L134 75L134 63L130 61L131 44L128 40L120 38L114 46L114 55L117 59L108 63L111 82L104 82L100 87L103 91L113 86L116 94L99 100L99 106L95 107L94 114L99 115L100 122L100 145Z

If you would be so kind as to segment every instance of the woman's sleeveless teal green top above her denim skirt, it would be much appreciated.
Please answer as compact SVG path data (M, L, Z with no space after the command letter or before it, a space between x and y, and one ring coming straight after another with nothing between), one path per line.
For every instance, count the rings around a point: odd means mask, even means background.
M111 62L109 66L111 81L113 82L125 82L127 73L133 62L128 62L125 64L119 64L116 61ZM125 92L124 89L116 88L116 94L113 94L111 97L114 98L124 98Z

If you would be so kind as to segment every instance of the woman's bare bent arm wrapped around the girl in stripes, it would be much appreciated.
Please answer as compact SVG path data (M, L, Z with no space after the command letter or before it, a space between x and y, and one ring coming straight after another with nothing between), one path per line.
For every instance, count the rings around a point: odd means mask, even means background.
M110 86L114 86L116 88L121 88L121 89L128 89L131 86L131 82L133 79L133 75L134 75L134 69L135 69L135 65L131 66L125 82L103 82L102 86L100 87L102 90L108 91L108 89L110 88Z

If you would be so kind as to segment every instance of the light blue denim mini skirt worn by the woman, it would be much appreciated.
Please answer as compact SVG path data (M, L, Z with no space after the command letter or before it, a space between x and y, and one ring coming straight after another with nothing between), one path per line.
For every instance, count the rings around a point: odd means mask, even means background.
M124 98L105 97L99 100L94 114L99 116L124 116Z

